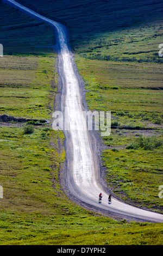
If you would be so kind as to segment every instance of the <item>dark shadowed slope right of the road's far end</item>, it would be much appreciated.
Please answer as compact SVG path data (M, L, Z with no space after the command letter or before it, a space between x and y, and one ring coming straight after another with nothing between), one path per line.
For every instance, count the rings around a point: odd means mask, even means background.
M66 23L72 29L78 28L96 33L97 30L116 29L137 23L161 19L162 1L91 1L91 0L29 0L18 2L40 11L40 13ZM95 27L89 24L92 23ZM90 31L90 28L93 30Z

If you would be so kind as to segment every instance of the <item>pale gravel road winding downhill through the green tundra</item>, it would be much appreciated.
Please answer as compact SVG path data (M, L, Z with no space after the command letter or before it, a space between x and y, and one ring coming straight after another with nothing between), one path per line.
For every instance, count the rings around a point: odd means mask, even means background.
M57 29L59 74L62 81L61 111L67 109L69 130L65 131L67 154L67 186L71 194L95 209L104 209L111 214L129 217L133 220L163 222L163 215L142 210L134 206L112 199L108 204L106 194L98 184L99 166L95 149L92 147L89 131L84 129L84 115L82 111L82 96L80 93L78 74L74 69L73 56L67 44L67 35L64 26L49 20L34 11L23 7L12 0L3 2L12 5L24 13L48 23ZM77 114L80 113L80 114ZM98 203L98 195L102 192L102 203Z

